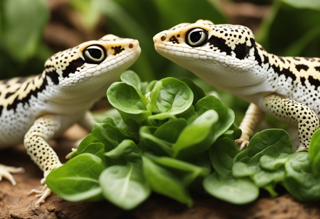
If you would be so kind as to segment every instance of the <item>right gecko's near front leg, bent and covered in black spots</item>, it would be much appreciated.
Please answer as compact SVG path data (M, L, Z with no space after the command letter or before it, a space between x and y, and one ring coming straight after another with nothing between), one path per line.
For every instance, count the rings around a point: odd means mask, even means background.
M316 113L304 104L279 97L276 94L265 97L263 106L266 112L276 118L296 124L300 140L297 151L308 151L310 139L319 128L319 119Z

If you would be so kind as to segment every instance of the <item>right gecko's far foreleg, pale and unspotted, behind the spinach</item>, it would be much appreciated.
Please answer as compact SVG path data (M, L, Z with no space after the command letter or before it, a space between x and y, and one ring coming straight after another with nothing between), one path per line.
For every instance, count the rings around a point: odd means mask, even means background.
M245 146L248 146L250 137L253 135L253 129L263 119L263 117L264 112L257 105L251 103L239 126L242 134L239 139L236 139L236 144L240 145L240 150L243 150Z

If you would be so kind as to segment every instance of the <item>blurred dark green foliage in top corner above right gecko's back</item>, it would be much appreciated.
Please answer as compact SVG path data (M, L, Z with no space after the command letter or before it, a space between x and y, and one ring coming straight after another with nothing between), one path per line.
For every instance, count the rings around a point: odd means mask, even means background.
M319 1L278 0L262 21L255 38L276 55L319 57L319 22Z

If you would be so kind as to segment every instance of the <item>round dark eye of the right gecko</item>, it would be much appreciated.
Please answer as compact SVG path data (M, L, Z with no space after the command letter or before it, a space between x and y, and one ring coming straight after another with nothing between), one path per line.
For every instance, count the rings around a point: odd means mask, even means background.
M186 34L186 43L191 47L203 46L207 40L208 32L202 28L192 28Z

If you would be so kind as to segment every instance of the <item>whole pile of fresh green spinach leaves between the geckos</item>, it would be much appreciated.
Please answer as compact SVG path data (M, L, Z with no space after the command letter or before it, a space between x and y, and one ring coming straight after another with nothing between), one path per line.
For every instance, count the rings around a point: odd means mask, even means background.
M271 196L277 183L299 200L320 199L320 144L293 153L282 129L252 137L239 151L241 130L219 99L188 79L141 82L126 71L107 91L115 108L97 121L71 159L47 176L49 188L69 201L107 199L132 209L151 191L193 204L190 191L204 190L235 204L253 201L259 188ZM319 138L316 132L313 139Z

